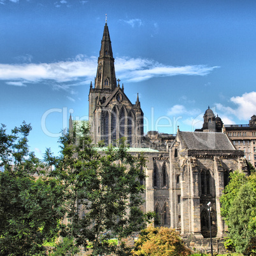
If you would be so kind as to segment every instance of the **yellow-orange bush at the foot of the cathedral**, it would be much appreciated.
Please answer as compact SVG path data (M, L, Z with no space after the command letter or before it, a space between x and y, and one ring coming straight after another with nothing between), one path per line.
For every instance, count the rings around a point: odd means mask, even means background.
M167 227L148 227L141 231L132 255L169 256L190 255L179 234Z

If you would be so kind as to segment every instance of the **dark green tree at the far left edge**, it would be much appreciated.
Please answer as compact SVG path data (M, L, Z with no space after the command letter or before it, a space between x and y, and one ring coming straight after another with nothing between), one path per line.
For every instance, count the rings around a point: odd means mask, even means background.
M31 125L0 128L0 253L36 255L59 232L62 189L55 179L32 176L41 166L29 152Z

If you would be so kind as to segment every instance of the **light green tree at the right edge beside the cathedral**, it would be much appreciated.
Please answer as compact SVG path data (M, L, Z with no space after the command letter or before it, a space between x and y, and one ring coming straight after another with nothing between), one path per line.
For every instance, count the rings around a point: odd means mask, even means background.
M229 245L245 253L256 236L256 174L246 177L238 171L232 173L220 202L222 216L229 227Z

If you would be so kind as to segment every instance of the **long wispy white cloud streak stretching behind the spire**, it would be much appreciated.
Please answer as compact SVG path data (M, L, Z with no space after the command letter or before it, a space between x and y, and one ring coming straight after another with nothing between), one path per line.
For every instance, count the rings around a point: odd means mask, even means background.
M205 76L218 67L165 66L155 60L118 57L115 61L117 78L124 82L140 82L158 76ZM75 59L53 63L0 64L0 80L9 85L24 86L27 83L52 81L54 87L84 85L94 80L97 57L77 55Z

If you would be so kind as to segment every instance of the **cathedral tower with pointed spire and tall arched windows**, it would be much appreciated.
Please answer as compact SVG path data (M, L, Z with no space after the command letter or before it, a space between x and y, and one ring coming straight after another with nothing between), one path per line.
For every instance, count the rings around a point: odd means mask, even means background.
M124 84L115 76L110 32L104 25L94 88L90 83L89 122L94 143L117 145L125 137L130 147L140 147L143 136L143 111L139 97L135 104L124 93ZM118 82L118 84L117 84Z

